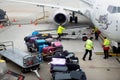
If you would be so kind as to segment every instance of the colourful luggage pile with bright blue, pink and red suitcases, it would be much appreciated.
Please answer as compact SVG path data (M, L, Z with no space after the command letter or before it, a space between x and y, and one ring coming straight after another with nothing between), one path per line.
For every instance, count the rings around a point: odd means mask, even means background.
M51 61L56 50L63 50L61 42L54 40L49 33L33 32L32 35L26 36L24 41L28 51L42 54L44 61Z

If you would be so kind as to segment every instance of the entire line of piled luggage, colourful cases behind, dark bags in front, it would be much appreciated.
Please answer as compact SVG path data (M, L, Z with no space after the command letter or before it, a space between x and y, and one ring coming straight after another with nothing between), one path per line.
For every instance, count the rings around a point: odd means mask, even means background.
M24 40L29 52L38 52L42 54L44 61L51 61L52 80L87 80L75 53L63 50L61 42L54 40L50 34L35 32Z

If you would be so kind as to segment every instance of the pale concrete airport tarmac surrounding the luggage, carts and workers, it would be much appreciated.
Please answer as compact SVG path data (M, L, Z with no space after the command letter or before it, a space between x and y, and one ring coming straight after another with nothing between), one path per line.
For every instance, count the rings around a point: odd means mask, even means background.
M42 0L30 0L30 1L40 2ZM64 0L59 1L61 3L64 2ZM52 0L45 0L45 2L58 4L58 0L54 0L54 2ZM83 3L81 2L80 4ZM27 48L24 42L25 36L30 35L35 30L46 29L56 30L57 25L51 22L51 18L45 18L41 20L37 25L30 23L31 20L35 20L36 18L38 18L39 16L38 14L41 13L40 10L42 10L42 8L40 9L30 4L14 2L10 3L6 1L0 1L0 5L2 9L7 11L10 21L12 22L10 26L0 29L0 42L13 41L15 48L27 52ZM72 0L69 0L69 3L67 2L65 5L73 6ZM49 13L49 10L52 9L46 8L46 10ZM50 16L50 14L48 14L48 16ZM13 19L16 19L16 22L13 22ZM84 17L79 17L80 22L82 22L81 20L86 21ZM83 25L77 26L84 27ZM74 52L75 55L79 58L80 68L85 72L87 80L120 80L120 63L116 60L117 56L109 57L109 59L103 59L103 55L96 55L97 52L103 52L100 39L98 41L97 40L93 41L94 50L91 61L88 60L88 55L86 57L86 61L82 60L82 57L85 53L84 48L85 41L82 41L82 39L62 40L61 42L63 44L64 50ZM17 66L16 64L12 63L11 61L7 62L6 64L9 70L21 73L20 67ZM48 65L48 62L42 62L40 64L39 74L43 80L51 80L50 65ZM26 73L23 75L25 76L25 80L38 80L33 72Z

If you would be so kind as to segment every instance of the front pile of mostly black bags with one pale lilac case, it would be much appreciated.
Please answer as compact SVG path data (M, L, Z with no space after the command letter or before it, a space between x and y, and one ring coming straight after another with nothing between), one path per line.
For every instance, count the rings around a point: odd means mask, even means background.
M55 52L49 64L52 80L86 80L85 72L80 69L78 57L73 52Z

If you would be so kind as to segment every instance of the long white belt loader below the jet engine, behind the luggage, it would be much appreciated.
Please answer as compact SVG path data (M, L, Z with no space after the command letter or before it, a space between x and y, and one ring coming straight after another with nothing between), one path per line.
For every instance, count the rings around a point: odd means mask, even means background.
M57 30L57 29L56 29ZM57 38L58 34L55 29L49 29L49 30L36 30L40 33L50 33L53 38ZM80 28L80 27L73 27L73 28L66 28L63 31L63 35L61 36L62 39L67 40L76 40L76 39L82 39L85 41L90 36L90 29L88 27Z

